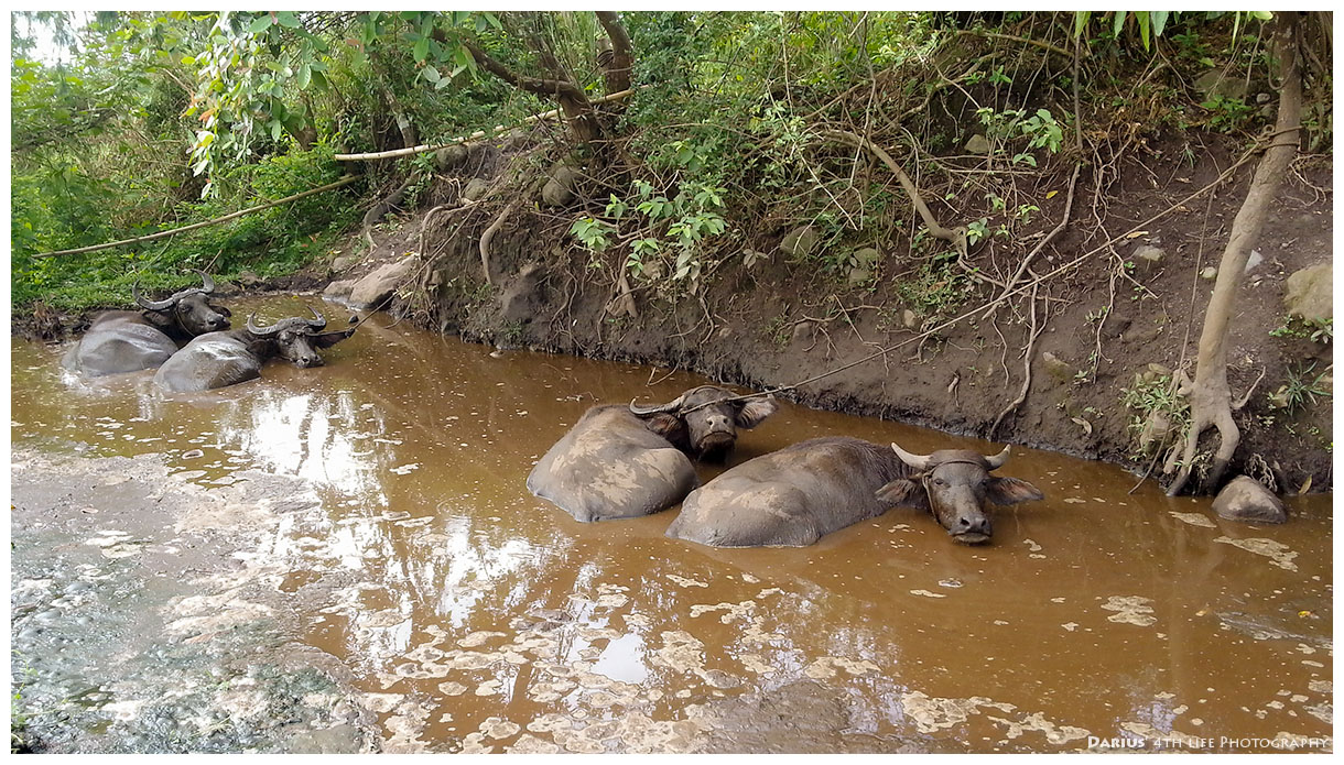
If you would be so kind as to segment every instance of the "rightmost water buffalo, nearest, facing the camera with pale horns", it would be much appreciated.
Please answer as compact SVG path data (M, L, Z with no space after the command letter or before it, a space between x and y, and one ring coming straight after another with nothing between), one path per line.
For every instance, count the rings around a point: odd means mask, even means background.
M989 540L985 503L1042 499L1016 478L989 475L1008 459L966 450L914 455L896 444L823 438L747 460L681 503L667 536L715 548L806 546L891 506L930 510L952 538Z

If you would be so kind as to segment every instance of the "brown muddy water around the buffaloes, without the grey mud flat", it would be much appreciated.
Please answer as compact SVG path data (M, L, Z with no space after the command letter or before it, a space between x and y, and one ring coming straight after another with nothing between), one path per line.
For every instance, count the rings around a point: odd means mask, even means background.
M302 302L320 305L234 313ZM664 538L676 509L583 525L524 487L587 407L669 400L692 374L492 356L384 315L324 368L204 395L11 353L16 448L156 452L207 491L246 470L316 490L320 511L246 553L280 566L293 638L351 668L384 750L1241 752L1331 734L1331 497L1236 525L1017 448L1001 472L1047 498L996 510L989 546L895 509L805 549L714 550ZM995 450L785 403L728 466L821 435Z

